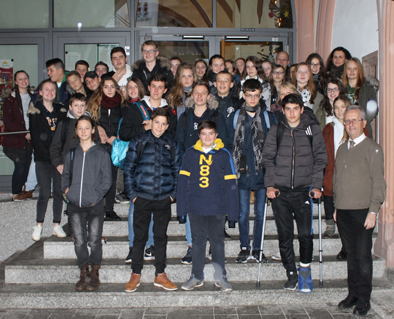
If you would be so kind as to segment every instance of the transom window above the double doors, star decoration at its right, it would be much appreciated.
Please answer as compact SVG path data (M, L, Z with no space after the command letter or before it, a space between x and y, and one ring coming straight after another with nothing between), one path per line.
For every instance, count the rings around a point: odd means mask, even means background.
M217 0L218 28L292 28L290 0Z

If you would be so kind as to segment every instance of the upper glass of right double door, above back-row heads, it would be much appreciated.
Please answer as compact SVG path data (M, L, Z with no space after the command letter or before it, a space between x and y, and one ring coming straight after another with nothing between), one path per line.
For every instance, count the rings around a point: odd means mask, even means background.
M225 59L235 61L255 55L259 59L274 61L276 53L283 50L282 42L225 42Z

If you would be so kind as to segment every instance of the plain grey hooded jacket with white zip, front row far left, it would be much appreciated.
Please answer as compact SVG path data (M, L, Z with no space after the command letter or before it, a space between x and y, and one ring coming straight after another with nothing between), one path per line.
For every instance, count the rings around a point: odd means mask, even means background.
M73 160L73 178L70 186L71 151L64 158L62 191L71 204L90 207L102 202L112 185L111 159L104 148L93 144L84 152L78 145ZM104 213L104 212L103 212Z

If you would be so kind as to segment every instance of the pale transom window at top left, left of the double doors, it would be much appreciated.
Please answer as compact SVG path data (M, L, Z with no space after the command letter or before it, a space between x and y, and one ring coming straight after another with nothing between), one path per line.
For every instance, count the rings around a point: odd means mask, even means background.
M53 21L55 28L130 26L126 0L54 0Z

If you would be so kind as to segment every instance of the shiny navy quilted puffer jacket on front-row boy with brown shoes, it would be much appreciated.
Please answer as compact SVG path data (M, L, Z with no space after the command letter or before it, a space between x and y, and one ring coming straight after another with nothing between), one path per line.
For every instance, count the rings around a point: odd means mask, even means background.
M143 151L138 158L138 145ZM141 147L141 146L140 146ZM173 159L171 159L171 153ZM181 157L171 135L155 137L149 130L134 137L124 160L124 191L130 200L142 197L147 200L176 199Z

